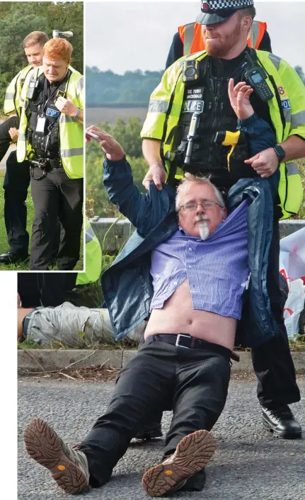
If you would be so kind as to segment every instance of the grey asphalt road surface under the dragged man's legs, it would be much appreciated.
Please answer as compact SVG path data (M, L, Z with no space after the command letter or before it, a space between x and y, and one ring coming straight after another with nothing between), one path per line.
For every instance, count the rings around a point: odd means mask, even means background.
M292 409L305 433L305 380L300 380L302 399ZM42 416L67 443L79 443L103 413L113 383L29 380L18 383L18 499L145 500L142 475L160 462L162 441L132 443L104 487L86 494L67 496L47 470L27 457L23 428ZM166 432L171 413L163 416ZM304 500L305 437L287 441L264 431L255 395L255 382L232 380L224 413L214 427L218 448L207 467L202 492L175 493L173 499L198 500Z

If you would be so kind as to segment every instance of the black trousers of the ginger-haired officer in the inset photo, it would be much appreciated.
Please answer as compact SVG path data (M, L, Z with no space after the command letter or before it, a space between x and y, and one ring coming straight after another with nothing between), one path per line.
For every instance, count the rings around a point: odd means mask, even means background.
M51 169L45 176L38 167L31 169L31 190L34 204L31 240L31 271L46 271L53 256L57 217L62 234L57 254L60 271L71 271L79 260L83 224L84 183L71 179L63 167Z

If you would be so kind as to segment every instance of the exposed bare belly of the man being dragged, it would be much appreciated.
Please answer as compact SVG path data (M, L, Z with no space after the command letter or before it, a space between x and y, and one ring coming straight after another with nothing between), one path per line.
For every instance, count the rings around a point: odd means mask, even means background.
M153 309L145 330L145 339L153 334L189 334L231 350L234 348L236 319L192 308L188 280L164 302Z

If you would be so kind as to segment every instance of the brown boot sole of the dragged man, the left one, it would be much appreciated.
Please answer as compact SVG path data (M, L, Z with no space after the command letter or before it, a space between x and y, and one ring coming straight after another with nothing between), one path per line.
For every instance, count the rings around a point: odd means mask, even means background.
M33 419L23 434L28 455L50 470L58 486L68 494L88 489L88 479L62 450L59 437L42 419Z

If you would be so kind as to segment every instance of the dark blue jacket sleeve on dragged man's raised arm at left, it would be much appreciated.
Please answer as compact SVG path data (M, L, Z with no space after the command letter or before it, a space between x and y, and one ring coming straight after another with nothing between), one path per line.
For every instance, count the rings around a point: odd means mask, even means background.
M148 193L140 193L134 184L130 164L125 158L120 161L104 161L103 183L109 200L142 236L156 227L171 209L175 199L175 192L166 185L158 191L154 183L151 183Z

